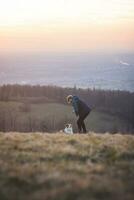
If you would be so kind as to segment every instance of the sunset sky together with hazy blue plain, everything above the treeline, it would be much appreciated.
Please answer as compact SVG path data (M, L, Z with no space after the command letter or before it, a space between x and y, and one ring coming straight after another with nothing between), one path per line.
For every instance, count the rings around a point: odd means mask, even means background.
M0 84L134 91L133 0L0 3Z

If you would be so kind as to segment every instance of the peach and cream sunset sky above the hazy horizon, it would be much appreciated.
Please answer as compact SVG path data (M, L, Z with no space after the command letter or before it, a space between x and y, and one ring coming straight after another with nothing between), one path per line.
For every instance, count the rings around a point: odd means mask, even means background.
M0 0L0 51L134 51L134 0Z

